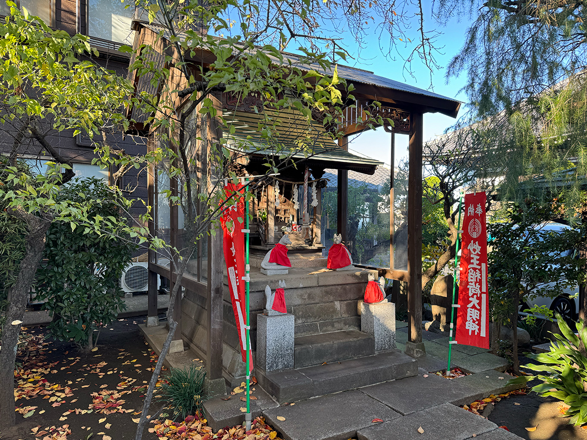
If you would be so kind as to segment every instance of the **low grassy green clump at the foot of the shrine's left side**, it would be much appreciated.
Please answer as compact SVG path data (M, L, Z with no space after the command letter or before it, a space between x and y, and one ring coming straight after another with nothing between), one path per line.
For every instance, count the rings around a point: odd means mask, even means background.
M198 412L203 414L204 379L206 371L203 367L191 364L187 368L172 368L161 382L161 400L167 402L173 419Z

